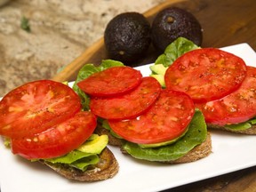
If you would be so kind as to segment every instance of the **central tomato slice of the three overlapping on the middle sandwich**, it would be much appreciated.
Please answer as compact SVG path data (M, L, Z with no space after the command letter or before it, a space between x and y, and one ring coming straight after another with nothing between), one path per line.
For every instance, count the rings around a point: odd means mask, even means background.
M105 119L129 119L140 116L156 101L161 85L154 77L142 78L141 84L132 92L116 97L92 98L92 113Z

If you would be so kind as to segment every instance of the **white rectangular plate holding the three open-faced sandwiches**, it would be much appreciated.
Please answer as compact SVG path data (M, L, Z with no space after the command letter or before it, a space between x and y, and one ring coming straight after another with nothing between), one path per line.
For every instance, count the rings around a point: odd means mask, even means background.
M256 53L248 44L223 48L256 67ZM139 67L148 76L148 65ZM2 192L149 192L174 188L256 165L256 136L212 132L212 154L189 164L158 164L124 156L119 148L109 147L120 165L110 180L82 183L66 180L42 164L13 156L0 139L0 185Z

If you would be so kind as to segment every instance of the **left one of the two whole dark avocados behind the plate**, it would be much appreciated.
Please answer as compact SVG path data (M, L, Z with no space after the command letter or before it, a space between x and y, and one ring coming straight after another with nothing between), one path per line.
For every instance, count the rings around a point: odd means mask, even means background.
M121 13L108 22L104 42L110 59L129 64L148 51L150 24L138 12Z

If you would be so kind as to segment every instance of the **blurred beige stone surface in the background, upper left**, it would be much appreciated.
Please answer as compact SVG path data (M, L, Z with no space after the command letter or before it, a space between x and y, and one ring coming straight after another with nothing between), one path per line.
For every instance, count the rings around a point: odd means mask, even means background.
M0 7L0 97L54 76L103 36L116 14L164 0L11 0ZM30 32L20 28L28 19Z

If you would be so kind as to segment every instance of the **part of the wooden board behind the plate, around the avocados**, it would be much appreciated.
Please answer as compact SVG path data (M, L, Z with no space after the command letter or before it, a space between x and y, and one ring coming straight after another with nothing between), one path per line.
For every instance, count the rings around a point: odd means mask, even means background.
M192 12L204 29L202 47L223 47L232 44L249 43L256 50L256 1L255 0L169 0L144 12L150 22L160 10L177 6ZM141 58L132 67L151 63L157 54L153 46L145 58ZM59 74L52 77L55 81L73 81L78 70L86 63L99 65L108 59L101 37L76 60L68 64Z

